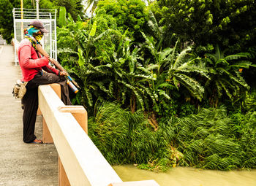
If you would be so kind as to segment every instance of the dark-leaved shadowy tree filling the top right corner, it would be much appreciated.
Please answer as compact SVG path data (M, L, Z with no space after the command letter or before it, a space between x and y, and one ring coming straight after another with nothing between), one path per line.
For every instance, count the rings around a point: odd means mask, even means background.
M161 22L184 42L219 44L231 53L254 45L255 0L159 0Z

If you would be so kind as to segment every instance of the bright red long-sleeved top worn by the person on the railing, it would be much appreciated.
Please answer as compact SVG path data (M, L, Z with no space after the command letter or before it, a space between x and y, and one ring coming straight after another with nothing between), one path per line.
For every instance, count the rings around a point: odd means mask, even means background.
M37 52L34 50L34 47L32 47L29 39L23 39L20 42L17 53L20 69L23 75L21 81L29 82L39 71L42 71L42 69L49 73L59 75L59 70L54 69L48 64L48 58L42 58L41 55L38 57Z

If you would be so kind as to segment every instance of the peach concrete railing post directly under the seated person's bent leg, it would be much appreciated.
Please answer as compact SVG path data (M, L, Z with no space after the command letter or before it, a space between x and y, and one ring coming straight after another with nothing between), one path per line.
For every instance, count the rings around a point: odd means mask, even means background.
M50 87L53 88L54 92L61 98L61 85L57 83L50 84ZM40 113L41 111L37 112ZM42 115L42 114L41 114ZM42 117L42 142L45 144L52 144L53 143L53 138L50 135L50 131L48 129L47 124L45 123L44 117Z

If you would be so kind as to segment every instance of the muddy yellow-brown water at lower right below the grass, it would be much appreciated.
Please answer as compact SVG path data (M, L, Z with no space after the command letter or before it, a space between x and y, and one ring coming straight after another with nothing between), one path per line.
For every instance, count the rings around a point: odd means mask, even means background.
M154 179L161 186L256 186L256 170L211 171L176 167L165 173L154 173L135 166L113 168L124 182Z

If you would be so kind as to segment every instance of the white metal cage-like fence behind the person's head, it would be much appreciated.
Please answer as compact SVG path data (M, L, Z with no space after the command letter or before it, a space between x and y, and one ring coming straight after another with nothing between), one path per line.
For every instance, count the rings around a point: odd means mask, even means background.
M29 28L29 23L32 20L40 20L44 23L45 28L49 33L44 34L41 44L45 51L50 55L51 58L57 60L57 35L56 35L56 9L23 9L14 8L13 13L13 26L14 26L14 39L15 43L20 42L24 38L23 30ZM15 64L18 63L17 47L15 44Z

